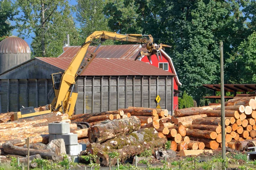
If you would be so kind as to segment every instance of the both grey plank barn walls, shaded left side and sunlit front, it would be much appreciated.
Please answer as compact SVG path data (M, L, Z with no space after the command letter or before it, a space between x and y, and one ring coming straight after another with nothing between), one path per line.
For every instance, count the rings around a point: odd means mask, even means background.
M79 77L77 83L76 114L129 106L155 108L157 95L161 108L172 109L172 77ZM52 92L51 79L0 79L0 113L49 104Z

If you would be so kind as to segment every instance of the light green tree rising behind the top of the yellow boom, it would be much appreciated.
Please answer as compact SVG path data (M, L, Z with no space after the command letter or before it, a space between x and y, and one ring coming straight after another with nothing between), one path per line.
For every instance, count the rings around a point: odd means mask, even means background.
M103 14L105 0L77 0L77 20L85 40L94 31L108 31L108 19Z

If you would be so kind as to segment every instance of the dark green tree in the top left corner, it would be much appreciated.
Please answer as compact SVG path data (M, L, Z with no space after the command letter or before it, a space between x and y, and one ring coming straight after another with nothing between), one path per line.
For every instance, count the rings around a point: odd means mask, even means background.
M16 14L17 6L11 0L0 1L0 37L11 35L14 26L11 25L10 21L15 20ZM0 38L1 40L3 38Z

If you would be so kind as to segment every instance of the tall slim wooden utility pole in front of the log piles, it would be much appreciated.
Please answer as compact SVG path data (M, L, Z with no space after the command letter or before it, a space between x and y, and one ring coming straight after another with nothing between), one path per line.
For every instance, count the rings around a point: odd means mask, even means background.
M221 54L221 142L222 142L222 169L225 170L226 161L226 146L225 146L225 99L224 99L224 59L223 59L223 42L220 42L220 54Z

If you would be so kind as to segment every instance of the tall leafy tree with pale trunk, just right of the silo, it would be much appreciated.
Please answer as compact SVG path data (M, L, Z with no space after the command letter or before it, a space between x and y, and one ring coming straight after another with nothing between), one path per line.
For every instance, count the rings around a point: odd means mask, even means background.
M17 0L23 15L18 18L18 32L32 37L34 57L57 57L70 34L70 45L77 45L76 30L67 0Z

